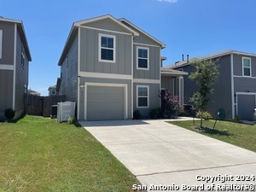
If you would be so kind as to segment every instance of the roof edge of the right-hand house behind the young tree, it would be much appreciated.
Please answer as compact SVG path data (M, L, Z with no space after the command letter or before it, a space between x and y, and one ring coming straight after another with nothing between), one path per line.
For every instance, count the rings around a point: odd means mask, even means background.
M218 57L221 57L221 56L224 56L224 55L231 55L231 54L247 55L247 56L255 56L256 57L256 54L246 53L246 52L232 50L232 49L227 49L227 50L224 50L224 51L221 51L221 52L218 52L218 53L202 56L200 59L201 60L211 60L211 59L214 59L214 58L218 58ZM190 61L191 60L193 61L193 59L195 59L195 58L196 57L190 59ZM191 64L191 62L188 62L188 61L180 61L180 62L173 63L173 64L171 64L169 66L166 66L166 67L167 68L177 68L177 67L188 66L190 64Z

